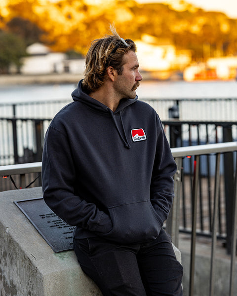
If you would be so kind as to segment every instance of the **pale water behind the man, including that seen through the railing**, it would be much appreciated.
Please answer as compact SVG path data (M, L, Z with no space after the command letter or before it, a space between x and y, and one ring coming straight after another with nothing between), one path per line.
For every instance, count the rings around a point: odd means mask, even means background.
M56 104L56 100L71 102L71 93L77 82L71 84L15 85L0 86L0 104L19 104L50 101L33 107L18 106L18 117L52 118L66 103ZM161 120L169 118L168 109L176 104L175 99L236 98L232 101L182 102L179 105L181 120L229 120L237 121L237 81L142 81L137 89L139 99L151 104ZM154 102L148 99L163 99ZM173 101L166 99L172 99ZM12 108L0 108L0 117L12 116Z

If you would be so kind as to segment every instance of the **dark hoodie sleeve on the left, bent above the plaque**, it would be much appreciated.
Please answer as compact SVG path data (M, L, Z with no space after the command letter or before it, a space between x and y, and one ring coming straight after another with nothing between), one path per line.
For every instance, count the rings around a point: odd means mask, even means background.
M95 204L74 194L75 165L67 136L50 126L44 139L42 155L42 190L46 204L70 225L93 232L112 229L110 217Z

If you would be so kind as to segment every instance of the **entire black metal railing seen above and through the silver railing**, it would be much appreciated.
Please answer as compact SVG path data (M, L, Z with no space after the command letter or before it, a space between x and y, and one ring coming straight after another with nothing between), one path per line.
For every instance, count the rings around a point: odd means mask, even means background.
M0 118L0 165L19 164L41 161L43 138L50 119L32 118ZM187 147L200 144L232 142L237 139L237 122L196 122L196 121L164 121L164 130L171 148ZM2 145L4 144L4 146ZM218 237L225 239L231 225L231 208L233 202L233 175L235 153L224 153L221 156L220 200L218 205ZM182 200L181 230L191 231L190 212L192 205L192 173L194 157L182 160ZM215 155L201 155L198 180L198 218L197 232L208 236L211 233L211 186L215 176ZM27 180L29 185L38 175ZM0 179L0 190L22 187L19 177L14 183L9 178ZM35 182L40 185L40 178ZM229 248L229 247L228 247Z

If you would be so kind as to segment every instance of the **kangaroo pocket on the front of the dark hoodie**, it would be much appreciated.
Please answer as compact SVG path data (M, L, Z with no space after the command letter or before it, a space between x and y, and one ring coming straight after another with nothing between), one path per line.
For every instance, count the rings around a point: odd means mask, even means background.
M108 239L122 244L134 244L154 240L159 234L161 226L150 200L108 210L113 222L112 230L103 234Z

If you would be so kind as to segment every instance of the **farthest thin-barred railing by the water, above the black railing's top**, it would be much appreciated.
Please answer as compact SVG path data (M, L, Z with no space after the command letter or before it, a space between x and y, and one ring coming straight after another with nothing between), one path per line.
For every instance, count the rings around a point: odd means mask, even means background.
M139 98L150 104L161 120L229 120L236 121L237 98ZM0 104L4 117L54 117L72 98Z

